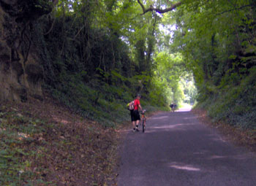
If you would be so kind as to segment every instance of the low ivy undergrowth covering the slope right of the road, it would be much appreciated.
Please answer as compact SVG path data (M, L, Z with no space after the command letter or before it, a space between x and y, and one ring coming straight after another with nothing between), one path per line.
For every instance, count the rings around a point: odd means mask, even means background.
M228 85L201 101L197 107L206 108L214 122L224 121L244 129L256 129L256 69L239 85Z

